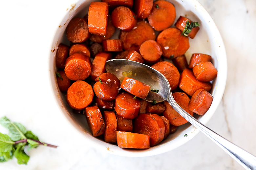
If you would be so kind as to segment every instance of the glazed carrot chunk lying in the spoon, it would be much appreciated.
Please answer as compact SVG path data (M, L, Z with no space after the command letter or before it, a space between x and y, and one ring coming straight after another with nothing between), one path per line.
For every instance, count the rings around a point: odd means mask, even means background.
M139 98L145 99L150 91L150 86L133 78L124 77L121 86L123 90Z

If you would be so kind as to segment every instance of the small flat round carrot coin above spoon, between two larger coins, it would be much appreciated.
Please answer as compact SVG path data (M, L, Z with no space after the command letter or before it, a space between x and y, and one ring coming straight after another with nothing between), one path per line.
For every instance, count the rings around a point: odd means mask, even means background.
M139 52L145 62L155 63L162 55L162 48L160 44L154 40L147 40L139 47Z

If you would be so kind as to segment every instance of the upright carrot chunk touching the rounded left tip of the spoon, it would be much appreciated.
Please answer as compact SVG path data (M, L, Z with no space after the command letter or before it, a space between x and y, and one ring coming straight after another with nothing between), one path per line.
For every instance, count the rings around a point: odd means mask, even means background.
M111 53L100 52L96 54L92 63L92 73L91 78L95 80L98 76L106 71L105 63L107 60L112 58Z

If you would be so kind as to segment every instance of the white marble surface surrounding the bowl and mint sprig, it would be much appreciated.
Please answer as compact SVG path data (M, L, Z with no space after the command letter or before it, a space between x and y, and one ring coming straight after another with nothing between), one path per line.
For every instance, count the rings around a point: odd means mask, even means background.
M223 37L228 77L222 102L207 124L217 133L256 155L256 1L199 0ZM28 165L16 160L0 169L191 169L242 170L222 149L199 133L164 154L129 158L91 148L61 116L51 94L48 56L55 28L71 0L1 1L0 117L24 124L42 141L29 151ZM0 127L1 132L6 132Z

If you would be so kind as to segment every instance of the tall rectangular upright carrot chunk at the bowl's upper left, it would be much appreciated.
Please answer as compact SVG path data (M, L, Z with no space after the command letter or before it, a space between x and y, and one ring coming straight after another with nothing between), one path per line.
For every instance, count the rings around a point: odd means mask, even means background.
M88 28L92 34L105 36L107 33L108 3L91 2L88 12Z

